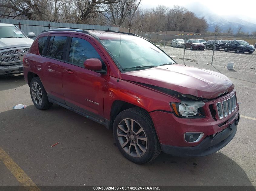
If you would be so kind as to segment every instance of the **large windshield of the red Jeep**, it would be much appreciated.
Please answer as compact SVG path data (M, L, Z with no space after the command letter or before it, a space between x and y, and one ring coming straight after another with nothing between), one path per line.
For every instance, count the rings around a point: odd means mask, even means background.
M155 67L163 64L175 63L169 56L161 51L161 49L158 49L155 45L140 37L121 40L107 39L101 40L101 42L116 61L119 62L121 69L136 66ZM143 67L139 68L142 69ZM138 67L134 69L138 69Z

